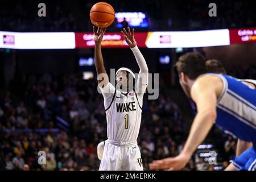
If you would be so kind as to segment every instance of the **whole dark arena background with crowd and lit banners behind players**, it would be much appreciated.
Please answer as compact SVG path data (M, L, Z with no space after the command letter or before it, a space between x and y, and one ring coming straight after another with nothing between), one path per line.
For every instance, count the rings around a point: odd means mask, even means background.
M0 0L1 170L98 170L97 144L108 138L89 18L97 2ZM144 95L137 140L148 171L153 160L180 154L196 114L174 68L181 55L199 52L219 60L230 76L256 79L255 2L106 2L115 10L102 42L106 71L139 71L120 32L128 25L149 72L159 74L158 99ZM182 170L222 171L236 145L236 137L213 126ZM46 164L39 164L40 151Z

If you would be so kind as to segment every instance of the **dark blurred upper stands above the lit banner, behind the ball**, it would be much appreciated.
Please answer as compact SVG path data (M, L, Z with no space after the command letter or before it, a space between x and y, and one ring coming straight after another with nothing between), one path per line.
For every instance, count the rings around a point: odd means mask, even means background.
M38 1L0 0L0 30L5 31L91 31L89 11L98 1L44 1L47 16L38 16ZM107 0L116 12L144 12L148 28L137 31L202 30L255 27L253 1L214 1L217 16L208 15L210 1ZM135 6L136 5L136 6ZM119 31L115 21L109 31Z

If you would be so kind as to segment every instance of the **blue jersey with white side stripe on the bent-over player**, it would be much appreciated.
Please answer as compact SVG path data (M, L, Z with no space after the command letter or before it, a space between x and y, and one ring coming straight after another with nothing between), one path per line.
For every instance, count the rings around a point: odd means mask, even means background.
M216 124L246 142L256 144L256 89L237 78L207 73L220 77L224 88L217 101Z

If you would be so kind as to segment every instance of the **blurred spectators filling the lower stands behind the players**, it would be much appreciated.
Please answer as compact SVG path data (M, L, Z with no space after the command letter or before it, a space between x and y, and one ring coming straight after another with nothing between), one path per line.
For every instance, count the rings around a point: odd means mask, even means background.
M255 71L254 66L234 68L232 75L255 79ZM138 144L145 170L154 159L179 154L187 137L170 89L160 86L158 100L144 97ZM0 169L97 170L97 144L107 137L103 97L96 90L96 80L80 75L16 77L0 97ZM207 142L218 151L218 164L228 166L236 139L214 127ZM39 151L45 152L46 165L39 165ZM198 155L184 168L213 169Z

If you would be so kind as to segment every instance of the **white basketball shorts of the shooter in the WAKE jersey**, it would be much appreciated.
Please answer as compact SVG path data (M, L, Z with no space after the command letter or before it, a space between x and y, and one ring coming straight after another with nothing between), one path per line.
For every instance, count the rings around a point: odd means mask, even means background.
M138 145L120 147L106 142L99 171L143 171Z

